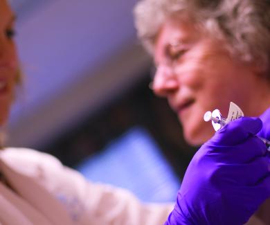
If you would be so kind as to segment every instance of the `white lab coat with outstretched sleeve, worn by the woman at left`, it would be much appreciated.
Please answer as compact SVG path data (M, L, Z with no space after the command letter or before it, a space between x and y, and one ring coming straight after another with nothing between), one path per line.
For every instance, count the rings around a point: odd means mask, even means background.
M0 224L163 224L173 204L143 204L127 190L86 181L55 157L0 151Z

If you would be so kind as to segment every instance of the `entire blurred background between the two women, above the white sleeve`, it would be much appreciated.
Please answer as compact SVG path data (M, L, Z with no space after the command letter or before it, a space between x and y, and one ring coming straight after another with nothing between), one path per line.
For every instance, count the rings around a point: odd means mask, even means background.
M136 39L136 0L10 2L24 84L8 145L53 154L143 201L174 201L195 149L149 89L152 61Z

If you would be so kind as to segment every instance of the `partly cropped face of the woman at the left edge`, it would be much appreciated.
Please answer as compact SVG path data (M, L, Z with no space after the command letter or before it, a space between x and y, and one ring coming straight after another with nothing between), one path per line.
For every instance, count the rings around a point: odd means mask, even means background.
M0 125L8 118L18 71L13 22L14 14L6 0L0 0Z

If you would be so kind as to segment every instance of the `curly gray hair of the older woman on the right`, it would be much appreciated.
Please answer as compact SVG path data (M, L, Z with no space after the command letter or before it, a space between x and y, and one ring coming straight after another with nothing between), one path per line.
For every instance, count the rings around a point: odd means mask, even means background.
M134 8L138 37L150 53L166 19L188 15L213 37L228 43L228 50L243 62L269 69L269 0L141 0ZM270 79L270 75L269 79Z

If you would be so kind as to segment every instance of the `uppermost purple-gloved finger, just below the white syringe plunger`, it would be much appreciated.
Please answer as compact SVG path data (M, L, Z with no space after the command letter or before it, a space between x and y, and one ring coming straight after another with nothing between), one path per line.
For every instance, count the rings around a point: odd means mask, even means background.
M241 117L228 123L211 139L218 145L237 145L262 129L260 118Z

